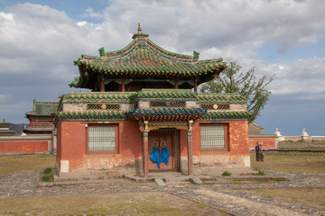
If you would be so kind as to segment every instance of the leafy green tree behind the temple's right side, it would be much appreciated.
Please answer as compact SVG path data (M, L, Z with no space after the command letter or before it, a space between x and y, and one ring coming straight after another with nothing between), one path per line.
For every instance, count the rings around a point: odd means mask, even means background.
M217 78L201 86L200 91L206 93L237 93L247 98L247 111L253 114L248 119L255 121L264 109L271 92L266 89L273 80L266 76L256 77L255 67L246 72L237 61L230 61L228 67Z

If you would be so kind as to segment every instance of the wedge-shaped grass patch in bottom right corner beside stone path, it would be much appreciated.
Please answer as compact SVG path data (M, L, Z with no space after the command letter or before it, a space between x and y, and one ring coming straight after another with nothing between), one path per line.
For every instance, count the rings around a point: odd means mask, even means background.
M325 210L325 187L249 189L246 192Z

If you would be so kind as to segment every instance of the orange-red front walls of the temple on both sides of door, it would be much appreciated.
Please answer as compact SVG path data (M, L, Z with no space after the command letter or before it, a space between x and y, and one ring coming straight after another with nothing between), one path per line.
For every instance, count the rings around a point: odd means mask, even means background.
M120 166L134 166L136 158L142 156L142 133L135 121L111 121L109 124L118 125L118 152L93 154L87 152L86 124L91 121L61 121L58 126L57 161L69 160L70 171L85 171L88 169L108 169ZM200 149L200 124L211 121L196 121L192 132L193 157L220 156L231 157L231 161L242 161L239 157L249 157L248 123L247 121L221 121L228 125L228 148L216 151ZM215 123L215 122L212 122ZM180 130L180 154L187 156L188 136L186 130ZM64 143L62 146L61 144ZM209 157L209 158L208 158ZM218 157L215 157L218 159ZM229 160L229 159L225 159ZM228 163L227 161L225 162ZM240 162L243 164L243 162Z

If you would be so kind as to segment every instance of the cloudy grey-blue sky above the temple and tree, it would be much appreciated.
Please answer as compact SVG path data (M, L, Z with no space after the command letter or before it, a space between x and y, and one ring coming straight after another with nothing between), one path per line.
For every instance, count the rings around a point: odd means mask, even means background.
M73 61L124 48L141 23L164 49L274 75L265 133L325 135L324 12L323 0L0 0L0 118L27 123L33 99L79 91Z

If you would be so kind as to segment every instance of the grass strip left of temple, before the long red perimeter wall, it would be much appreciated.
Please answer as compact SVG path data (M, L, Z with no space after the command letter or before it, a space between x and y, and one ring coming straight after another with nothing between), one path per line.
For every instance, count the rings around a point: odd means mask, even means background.
M0 156L0 177L8 173L54 167L55 161L53 155Z

